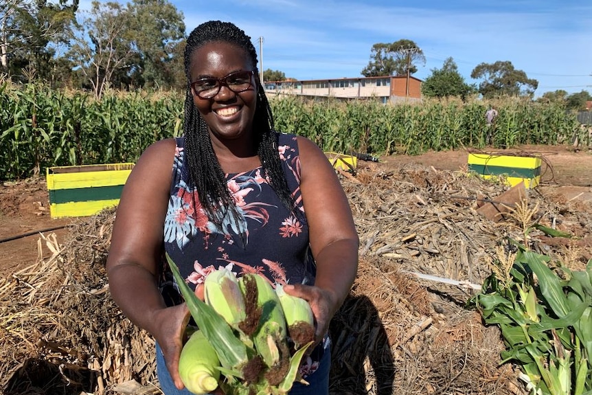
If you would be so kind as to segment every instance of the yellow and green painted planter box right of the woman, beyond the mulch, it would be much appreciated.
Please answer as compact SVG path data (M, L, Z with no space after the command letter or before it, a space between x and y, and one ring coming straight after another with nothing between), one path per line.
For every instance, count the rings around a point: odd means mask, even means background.
M540 183L540 157L519 157L512 155L469 154L468 170L485 179L505 177L510 186L524 181L526 188Z

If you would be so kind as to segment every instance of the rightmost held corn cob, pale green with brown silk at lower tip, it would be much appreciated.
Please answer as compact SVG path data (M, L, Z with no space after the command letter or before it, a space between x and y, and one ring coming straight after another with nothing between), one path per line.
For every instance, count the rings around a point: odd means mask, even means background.
M306 343L315 340L315 317L312 315L310 304L301 297L288 295L282 284L275 286L275 293L282 305L286 317L288 335L298 350Z

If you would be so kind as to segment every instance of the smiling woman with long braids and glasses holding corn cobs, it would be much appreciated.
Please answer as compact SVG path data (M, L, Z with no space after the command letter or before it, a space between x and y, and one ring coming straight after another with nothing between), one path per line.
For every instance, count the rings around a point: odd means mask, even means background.
M148 147L119 201L107 260L113 299L155 337L159 382L175 394L183 389L178 363L190 314L164 251L198 295L220 266L284 282L310 304L317 337L301 366L310 386L295 383L291 394L328 394L326 334L358 260L339 180L310 140L273 130L255 48L238 27L196 27L185 74L184 136Z

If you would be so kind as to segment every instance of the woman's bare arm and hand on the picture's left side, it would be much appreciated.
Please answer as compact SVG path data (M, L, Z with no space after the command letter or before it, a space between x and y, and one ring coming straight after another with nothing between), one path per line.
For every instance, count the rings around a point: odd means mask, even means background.
M135 164L117 207L106 270L113 300L155 337L173 380L183 387L178 361L189 314L184 304L167 308L157 284L174 151L174 139L166 139Z

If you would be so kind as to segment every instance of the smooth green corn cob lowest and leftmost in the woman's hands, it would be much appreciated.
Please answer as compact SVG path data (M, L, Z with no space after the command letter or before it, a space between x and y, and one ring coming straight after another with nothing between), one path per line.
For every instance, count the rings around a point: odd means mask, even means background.
M220 361L216 350L203 332L196 330L181 350L179 375L185 387L194 394L209 394L218 387Z

